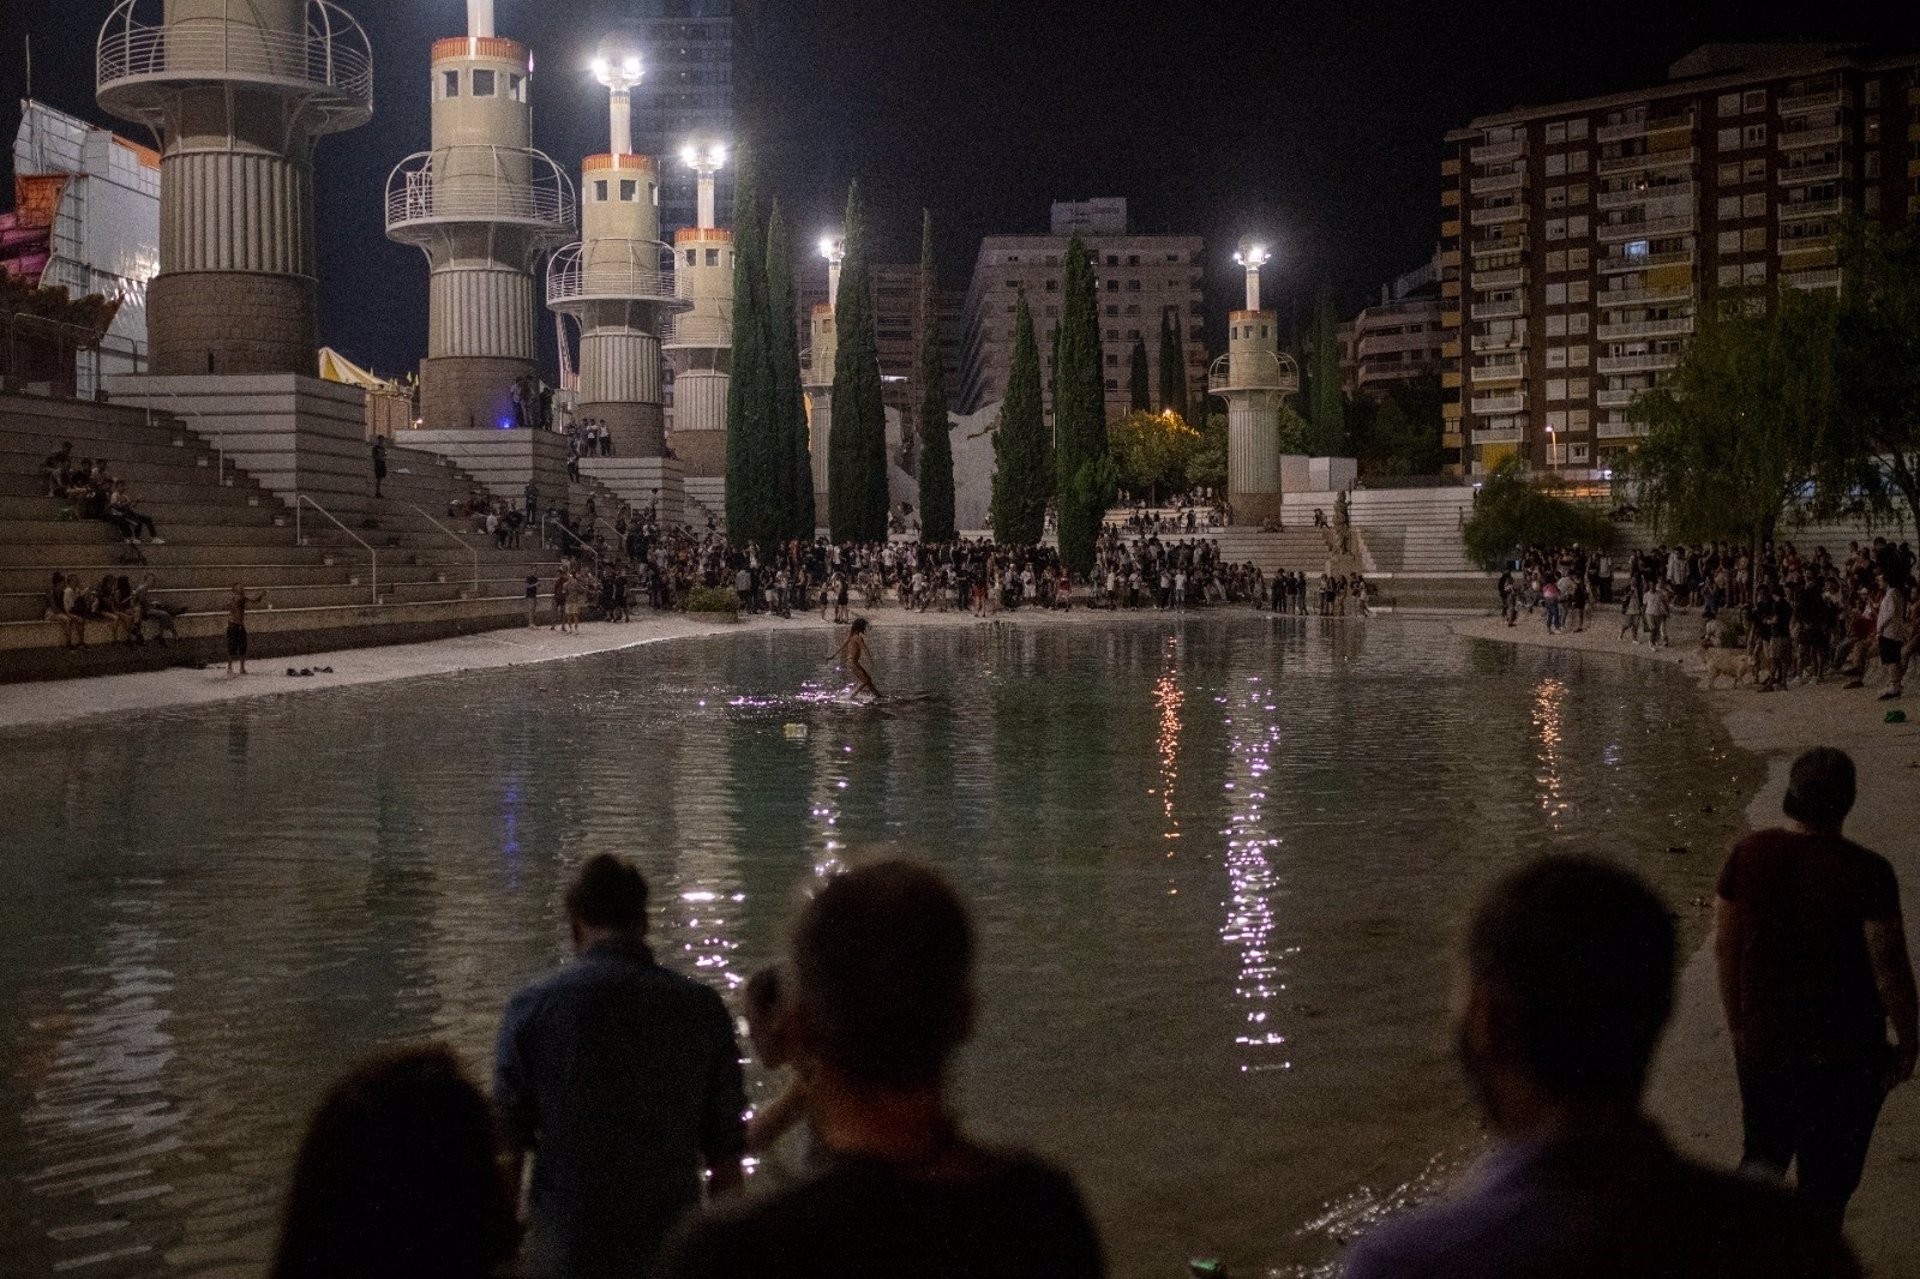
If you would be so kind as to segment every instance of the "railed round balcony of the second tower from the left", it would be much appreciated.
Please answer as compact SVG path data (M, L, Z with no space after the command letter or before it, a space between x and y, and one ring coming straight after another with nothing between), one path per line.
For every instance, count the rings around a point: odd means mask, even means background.
M516 146L444 146L401 159L386 179L386 234L411 242L459 225L524 227L559 244L572 236L572 179L545 152Z

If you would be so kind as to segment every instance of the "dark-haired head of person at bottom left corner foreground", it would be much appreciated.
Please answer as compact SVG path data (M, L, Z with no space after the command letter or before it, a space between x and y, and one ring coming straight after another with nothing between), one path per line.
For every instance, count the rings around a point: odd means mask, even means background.
M313 1114L273 1279L492 1279L520 1239L493 1108L447 1049L374 1058Z

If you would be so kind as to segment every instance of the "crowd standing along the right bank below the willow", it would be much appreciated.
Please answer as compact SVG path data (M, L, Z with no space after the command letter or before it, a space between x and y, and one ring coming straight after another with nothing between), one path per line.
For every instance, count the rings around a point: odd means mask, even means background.
M1903 695L1920 649L1920 599L1912 591L1914 551L1874 538L1845 555L1803 553L1791 542L1761 547L1726 543L1655 547L1619 561L1605 551L1534 547L1500 578L1509 626L1540 613L1549 634L1601 622L1619 613L1620 640L1672 647L1672 618L1697 611L1709 666L1738 655L1728 674L1751 676L1761 691L1839 678L1864 688L1878 666L1882 697Z

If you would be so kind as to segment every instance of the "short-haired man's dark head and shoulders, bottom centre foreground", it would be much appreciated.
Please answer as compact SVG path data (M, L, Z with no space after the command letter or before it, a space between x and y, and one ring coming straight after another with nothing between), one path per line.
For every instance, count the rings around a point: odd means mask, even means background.
M1104 1273L1073 1181L970 1141L947 1102L973 1029L973 929L945 880L887 860L831 880L793 929L785 1033L824 1171L697 1218L664 1279L1081 1279Z

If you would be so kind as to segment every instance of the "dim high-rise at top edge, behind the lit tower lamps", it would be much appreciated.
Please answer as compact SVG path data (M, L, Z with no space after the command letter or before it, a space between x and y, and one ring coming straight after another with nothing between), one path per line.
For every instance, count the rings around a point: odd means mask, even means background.
M634 150L662 161L660 227L693 227L695 173L674 156L733 133L733 0L626 0L645 50L647 79L634 90ZM718 221L733 207L732 171L718 177Z

